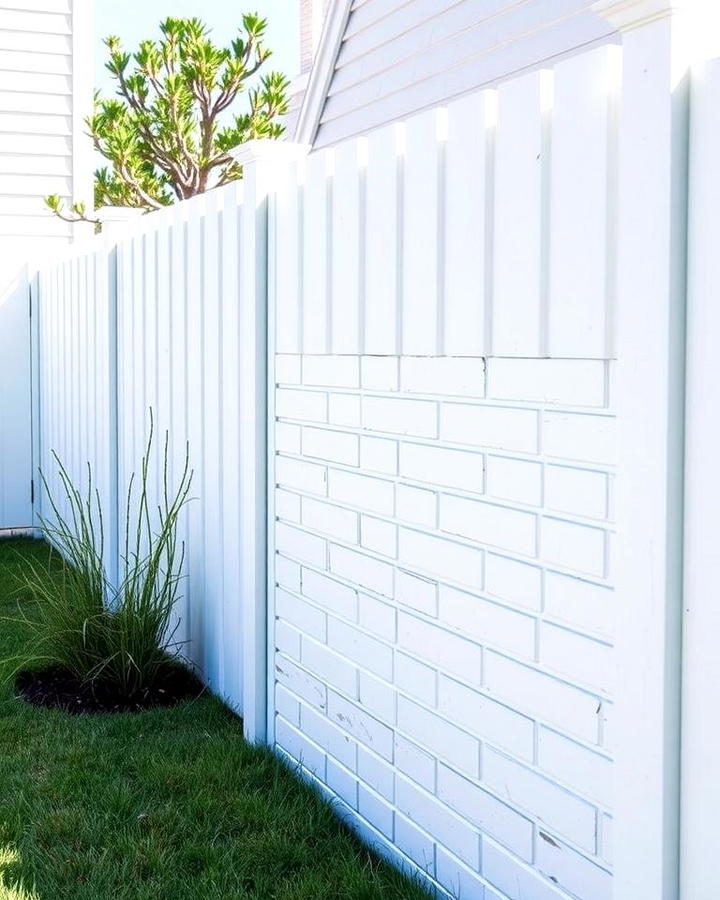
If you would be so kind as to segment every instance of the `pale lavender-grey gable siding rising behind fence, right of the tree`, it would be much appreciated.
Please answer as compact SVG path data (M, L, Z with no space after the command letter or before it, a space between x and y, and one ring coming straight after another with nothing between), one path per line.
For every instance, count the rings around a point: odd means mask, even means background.
M590 0L354 0L315 146L492 85L613 31ZM502 50L502 52L498 52Z

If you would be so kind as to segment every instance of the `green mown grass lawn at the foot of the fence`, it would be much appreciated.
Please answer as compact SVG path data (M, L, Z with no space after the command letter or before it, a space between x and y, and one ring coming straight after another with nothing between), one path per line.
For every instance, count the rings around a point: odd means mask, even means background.
M0 615L23 560L47 554L0 541ZM84 717L16 699L23 639L0 623L0 900L428 897L213 698Z

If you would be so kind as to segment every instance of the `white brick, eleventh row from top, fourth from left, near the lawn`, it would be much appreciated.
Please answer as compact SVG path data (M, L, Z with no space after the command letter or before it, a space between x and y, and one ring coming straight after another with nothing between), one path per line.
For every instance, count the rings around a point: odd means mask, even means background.
M477 831L439 800L398 776L395 781L395 804L403 815L432 833L439 844L444 844L471 868L478 868L480 840Z

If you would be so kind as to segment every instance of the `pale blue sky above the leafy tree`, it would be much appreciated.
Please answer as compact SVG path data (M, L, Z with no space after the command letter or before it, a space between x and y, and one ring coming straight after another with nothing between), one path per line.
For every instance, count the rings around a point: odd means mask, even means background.
M107 35L117 34L132 51L141 40L158 34L158 23L166 16L197 16L212 28L216 43L226 43L246 12L268 20L267 43L273 50L268 65L292 78L300 67L298 6L297 0L95 0L96 87L104 93L112 90L101 43Z

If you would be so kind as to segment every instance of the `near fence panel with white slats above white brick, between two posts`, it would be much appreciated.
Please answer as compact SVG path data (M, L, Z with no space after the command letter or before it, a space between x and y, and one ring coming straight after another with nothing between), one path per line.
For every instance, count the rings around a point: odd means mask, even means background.
M271 732L451 896L613 889L617 62L277 187Z

